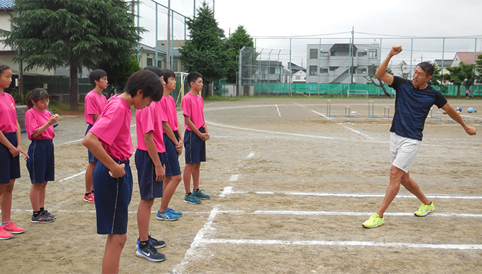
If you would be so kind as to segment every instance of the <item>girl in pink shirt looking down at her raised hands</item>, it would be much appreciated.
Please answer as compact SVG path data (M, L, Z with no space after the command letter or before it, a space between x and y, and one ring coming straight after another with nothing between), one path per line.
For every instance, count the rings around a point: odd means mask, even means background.
M25 114L25 128L28 140L27 169L30 172L30 203L33 223L51 223L55 215L45 209L45 189L48 181L55 180L55 137L53 124L59 121L59 114L52 114L47 107L48 94L37 87L26 96L28 111Z

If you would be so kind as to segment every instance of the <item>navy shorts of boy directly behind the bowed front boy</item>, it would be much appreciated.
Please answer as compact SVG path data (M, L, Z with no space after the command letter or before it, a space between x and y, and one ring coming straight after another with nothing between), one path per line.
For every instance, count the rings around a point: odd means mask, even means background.
M161 165L164 165L166 162L164 154L157 153L159 160L161 160ZM147 151L135 150L135 168L138 169L140 199L162 198L164 181L156 181L156 168Z

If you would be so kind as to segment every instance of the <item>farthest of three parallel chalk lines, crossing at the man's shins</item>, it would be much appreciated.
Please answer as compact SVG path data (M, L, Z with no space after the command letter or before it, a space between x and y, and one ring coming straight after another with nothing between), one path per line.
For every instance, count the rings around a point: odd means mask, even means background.
M233 187L225 187L220 197L230 194L288 194L297 196L316 196L316 197L344 197L344 198L376 198L385 197L385 193L335 193L335 192L301 192L301 191L261 191L261 190L232 190ZM222 195L222 196L221 196ZM482 196L469 196L461 194L427 194L430 199L482 199ZM413 194L398 194L398 198L416 198Z

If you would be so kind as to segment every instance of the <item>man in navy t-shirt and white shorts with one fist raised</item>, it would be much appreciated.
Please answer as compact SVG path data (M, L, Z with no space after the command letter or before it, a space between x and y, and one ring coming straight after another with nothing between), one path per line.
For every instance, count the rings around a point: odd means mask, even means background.
M390 62L393 56L401 52L402 47L394 45L379 69L376 70L376 77L379 77L380 80L396 90L396 100L395 114L393 115L390 128L390 155L392 163L390 184L380 208L371 215L370 219L363 223L363 226L369 229L384 224L383 214L398 194L400 184L422 202L420 208L415 212L415 216L423 217L435 211L432 202L425 197L417 183L410 178L410 167L420 149L425 119L427 119L430 108L434 104L439 109L447 111L447 114L459 123L467 134L476 134L476 128L467 126L455 109L447 103L447 99L439 91L427 84L432 79L434 73L434 67L430 62L421 62L417 65L412 81L386 73L388 62Z

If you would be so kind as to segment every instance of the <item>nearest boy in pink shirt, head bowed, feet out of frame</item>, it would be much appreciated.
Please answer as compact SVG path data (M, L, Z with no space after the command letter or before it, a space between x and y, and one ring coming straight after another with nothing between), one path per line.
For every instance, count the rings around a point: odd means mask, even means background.
M129 165L133 154L130 106L142 109L152 101L159 101L161 90L157 75L146 70L135 72L124 92L108 100L96 124L82 141L99 159L93 173L97 233L108 234L102 273L118 273L120 253L127 239L128 205L133 191Z

